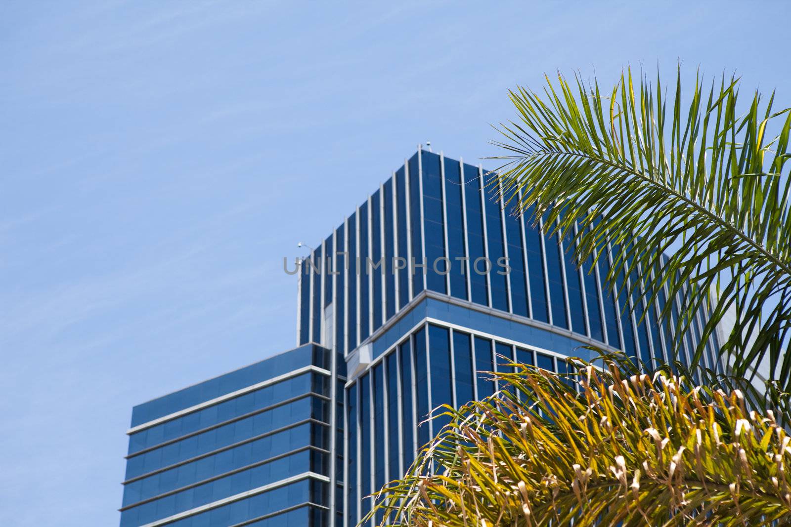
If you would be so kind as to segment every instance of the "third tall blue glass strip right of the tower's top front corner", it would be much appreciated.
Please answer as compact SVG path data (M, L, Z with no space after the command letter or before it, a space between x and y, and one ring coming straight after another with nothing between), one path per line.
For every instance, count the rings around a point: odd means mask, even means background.
M470 251L470 290L471 299L475 303L488 306L488 292L486 285L486 275L475 272L475 262L479 262L479 269L485 269L483 258L486 252L483 244L483 209L481 199L481 179L478 168L471 165L464 165L464 202L467 206L467 242Z

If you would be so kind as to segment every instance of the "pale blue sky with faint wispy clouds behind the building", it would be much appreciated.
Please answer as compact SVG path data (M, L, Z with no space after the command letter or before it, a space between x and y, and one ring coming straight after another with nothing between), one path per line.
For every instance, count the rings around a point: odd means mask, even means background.
M282 257L507 89L657 62L791 105L784 2L3 2L0 518L117 525L131 407L294 343Z

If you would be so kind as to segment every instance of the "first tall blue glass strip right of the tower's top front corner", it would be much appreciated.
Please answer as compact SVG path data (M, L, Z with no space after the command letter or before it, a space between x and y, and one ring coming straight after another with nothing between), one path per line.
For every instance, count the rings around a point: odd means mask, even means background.
M423 228L426 234L426 287L445 294L445 274L448 262L445 258L445 220L442 213L442 175L440 156L422 152L423 169ZM435 272L434 268L439 271Z

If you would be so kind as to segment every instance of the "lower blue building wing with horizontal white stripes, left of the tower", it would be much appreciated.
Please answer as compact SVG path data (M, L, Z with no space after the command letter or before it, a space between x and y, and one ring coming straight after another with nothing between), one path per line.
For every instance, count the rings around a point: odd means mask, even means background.
M309 344L135 407L121 527L331 525L338 369Z

